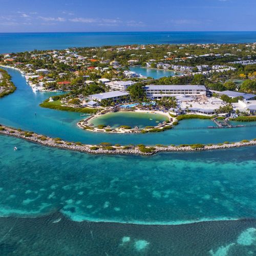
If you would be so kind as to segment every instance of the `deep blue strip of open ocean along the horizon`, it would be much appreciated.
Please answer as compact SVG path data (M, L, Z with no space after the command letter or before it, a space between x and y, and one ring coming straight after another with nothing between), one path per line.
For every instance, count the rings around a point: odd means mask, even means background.
M254 42L256 32L0 33L0 53L129 44Z

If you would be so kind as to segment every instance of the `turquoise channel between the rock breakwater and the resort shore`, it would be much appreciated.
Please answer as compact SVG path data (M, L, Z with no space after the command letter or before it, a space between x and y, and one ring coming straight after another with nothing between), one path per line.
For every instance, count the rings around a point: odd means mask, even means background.
M8 69L8 72L17 90L0 99L0 123L27 131L88 144L110 142L123 145L218 143L256 137L255 126L207 129L206 127L213 125L209 120L183 120L175 129L157 134L96 134L84 131L77 126L81 119L79 113L40 108L39 103L55 93L34 93L18 71ZM201 129L202 127L205 129ZM194 129L190 130L191 128Z

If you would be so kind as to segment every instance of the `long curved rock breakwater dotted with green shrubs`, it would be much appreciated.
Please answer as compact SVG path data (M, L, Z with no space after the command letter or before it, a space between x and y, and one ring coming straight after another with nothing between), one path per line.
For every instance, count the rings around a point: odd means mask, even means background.
M61 139L54 139L51 137L39 135L33 132L26 132L22 130L13 129L11 127L1 125L0 134L13 136L25 139L31 142L39 143L41 145L62 148L66 150L78 151L90 154L107 154L107 155L144 155L150 156L160 152L195 152L195 151L209 151L218 150L232 147L255 146L256 139L244 140L242 142L234 143L219 143L211 145L193 144L193 145L180 145L180 146L144 146L137 145L134 147L127 146L111 146L109 143L101 143L100 145L89 145L68 142Z

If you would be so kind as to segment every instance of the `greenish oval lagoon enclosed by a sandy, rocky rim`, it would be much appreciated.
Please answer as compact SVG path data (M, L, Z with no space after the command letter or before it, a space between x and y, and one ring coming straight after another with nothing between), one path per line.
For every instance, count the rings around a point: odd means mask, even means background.
M157 126L159 123L166 121L168 117L157 113L140 113L140 112L115 112L92 118L89 123L94 126L109 125L112 128L117 128L121 125L127 125L134 128L144 128L145 126Z

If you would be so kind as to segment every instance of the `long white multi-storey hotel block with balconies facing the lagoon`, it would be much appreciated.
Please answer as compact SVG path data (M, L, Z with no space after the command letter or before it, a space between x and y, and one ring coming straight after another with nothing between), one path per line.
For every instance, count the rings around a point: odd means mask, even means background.
M163 86L146 86L144 87L147 98L161 99L162 97L172 97L181 94L189 95L206 95L205 86L181 86L181 85L163 85Z

